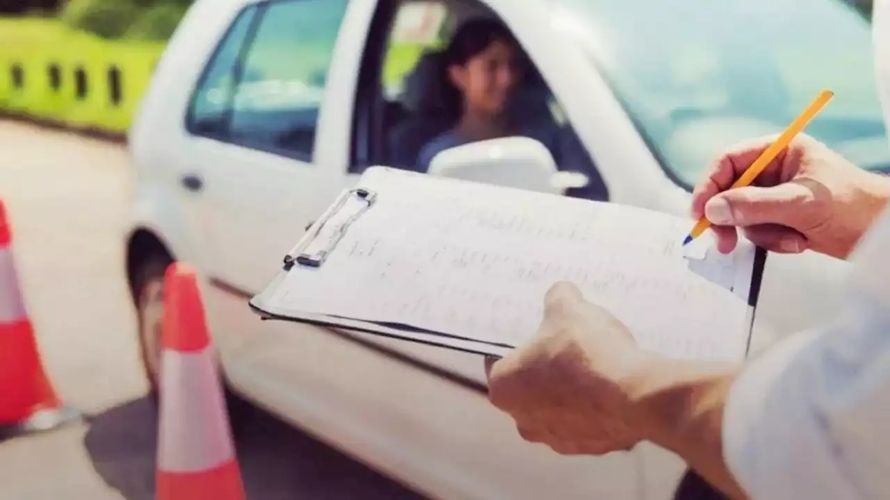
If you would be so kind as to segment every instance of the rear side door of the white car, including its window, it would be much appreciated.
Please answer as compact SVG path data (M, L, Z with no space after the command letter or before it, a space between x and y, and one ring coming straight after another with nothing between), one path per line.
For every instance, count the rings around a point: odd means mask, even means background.
M248 6L223 36L194 94L184 182L199 199L198 231L217 342L261 329L247 298L341 189L323 161L322 109L347 0Z

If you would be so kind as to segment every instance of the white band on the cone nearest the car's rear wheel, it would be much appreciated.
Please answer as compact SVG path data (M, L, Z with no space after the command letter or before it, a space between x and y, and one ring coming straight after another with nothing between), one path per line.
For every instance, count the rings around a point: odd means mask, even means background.
M164 351L158 469L202 472L234 459L229 418L212 348Z

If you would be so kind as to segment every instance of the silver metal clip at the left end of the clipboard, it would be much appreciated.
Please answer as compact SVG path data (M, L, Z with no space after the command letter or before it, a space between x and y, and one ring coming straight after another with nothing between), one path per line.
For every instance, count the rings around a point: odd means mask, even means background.
M348 219L338 223L333 230L333 234L328 238L328 241L324 246L312 253L304 252L304 250L312 246L315 240L319 238L322 230L327 228L328 223L344 209L350 199L358 199L364 201L365 204L361 206L359 210L356 210L355 213L350 215ZM320 267L320 265L328 258L328 255L334 251L337 243L339 243L340 239L346 234L346 230L349 229L352 222L357 221L361 214L364 214L368 208L374 204L375 199L376 193L372 190L356 189L345 191L340 195L340 198L337 198L334 205L328 208L328 211L322 215L321 219L317 223L312 224L315 227L314 230L310 228L312 230L312 235L303 238L293 251L285 255L284 270L291 270L295 263L302 266Z

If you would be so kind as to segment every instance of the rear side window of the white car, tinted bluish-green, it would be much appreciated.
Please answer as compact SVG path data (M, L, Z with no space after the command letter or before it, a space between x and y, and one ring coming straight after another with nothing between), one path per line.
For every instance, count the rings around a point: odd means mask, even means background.
M223 87L229 96L217 118L223 123L224 140L312 160L328 67L347 4L348 0L263 4L241 57L218 57L208 72L209 84L214 74L225 74L228 65L229 76L217 79L234 81ZM235 32L233 28L231 33ZM228 36L223 47L230 38L234 36ZM197 101L205 94L209 91L202 86ZM209 111L214 112L220 113ZM194 116L197 121L198 114Z

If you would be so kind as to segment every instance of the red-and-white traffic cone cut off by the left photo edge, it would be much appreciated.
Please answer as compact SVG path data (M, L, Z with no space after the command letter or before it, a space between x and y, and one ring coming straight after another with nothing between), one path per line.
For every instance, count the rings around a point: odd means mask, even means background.
M0 440L79 419L46 376L12 258L12 230L0 200Z

